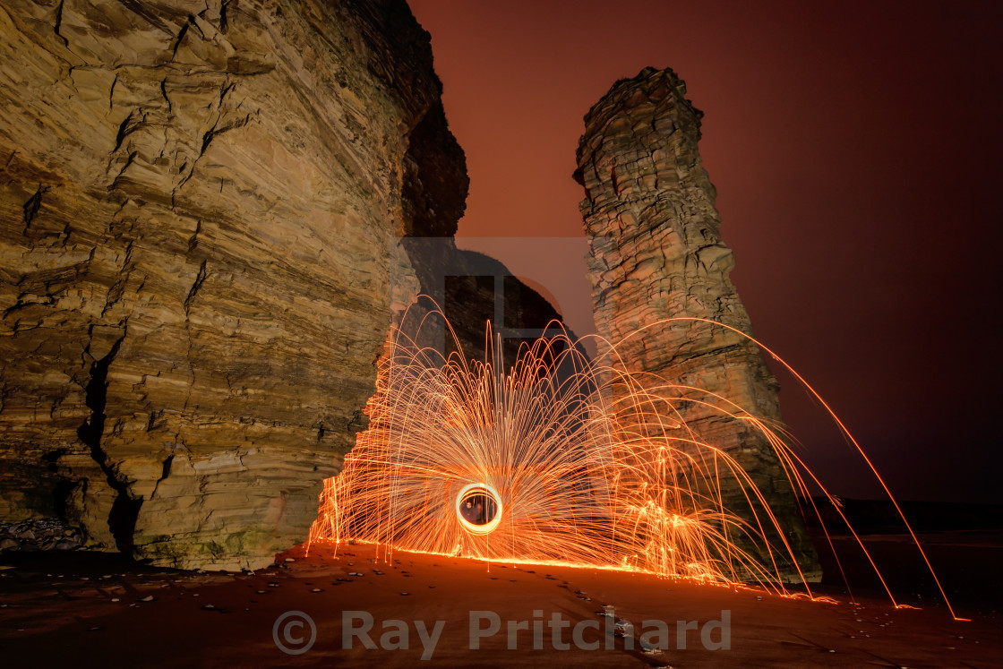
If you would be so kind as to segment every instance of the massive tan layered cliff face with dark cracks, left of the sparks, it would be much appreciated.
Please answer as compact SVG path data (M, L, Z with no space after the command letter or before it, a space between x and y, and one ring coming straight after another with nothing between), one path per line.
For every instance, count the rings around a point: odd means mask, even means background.
M6 2L0 518L184 568L305 539L398 239L458 218L415 184L464 173L439 92L402 0Z

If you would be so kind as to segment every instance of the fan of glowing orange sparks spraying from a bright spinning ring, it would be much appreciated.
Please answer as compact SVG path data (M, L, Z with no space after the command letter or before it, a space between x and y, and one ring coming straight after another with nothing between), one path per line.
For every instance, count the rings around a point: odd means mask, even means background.
M484 360L471 362L394 331L369 427L325 481L312 544L757 582L781 593L805 580L763 493L677 408L701 402L747 421L810 498L803 477L820 483L771 426L724 397L623 371L615 347L590 361L565 336L541 339L505 373L500 345L485 339ZM724 480L740 485L741 512L724 504Z

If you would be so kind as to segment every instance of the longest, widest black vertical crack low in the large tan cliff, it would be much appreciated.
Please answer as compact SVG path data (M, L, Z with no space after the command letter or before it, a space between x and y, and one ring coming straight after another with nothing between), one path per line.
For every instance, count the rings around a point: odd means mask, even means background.
M86 405L90 409L90 418L77 429L77 436L90 449L90 456L107 478L108 485L115 490L117 495L111 505L111 512L108 514L108 529L115 539L115 546L119 551L131 555L134 550L132 535L135 531L136 518L139 515L139 507L142 499L133 499L128 494L128 486L115 476L115 472L109 464L107 453L101 447L101 436L104 433L104 409L107 405L108 390L108 368L118 354L118 349L125 339L125 333L115 340L107 355L90 365L90 381L84 387L86 393Z

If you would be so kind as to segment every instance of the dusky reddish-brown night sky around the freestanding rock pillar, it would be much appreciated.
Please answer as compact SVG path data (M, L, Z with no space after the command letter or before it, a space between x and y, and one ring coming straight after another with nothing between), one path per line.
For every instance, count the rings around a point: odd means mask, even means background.
M757 338L833 407L898 498L1003 503L991 326L1003 6L409 4L466 152L457 244L492 249L587 333L572 180L582 117L615 80L671 67L705 112L700 153ZM831 422L777 375L805 460L838 494L880 496Z

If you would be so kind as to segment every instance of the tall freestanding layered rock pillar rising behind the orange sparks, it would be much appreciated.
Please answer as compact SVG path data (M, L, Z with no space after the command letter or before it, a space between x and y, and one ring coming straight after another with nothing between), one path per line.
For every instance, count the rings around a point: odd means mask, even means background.
M758 418L779 421L778 384L758 348L741 335L686 321L631 336L673 317L710 319L751 334L728 278L734 259L719 234L716 192L697 149L702 112L685 93L672 70L646 68L614 84L585 116L576 179L586 190L581 211L591 243L596 327L622 342L618 351L630 371L706 391L680 395L721 404L710 398L715 393ZM746 421L699 402L674 404L700 438L725 449L750 474L798 562L814 571L796 499L766 439ZM748 516L737 480L722 483L726 505Z

